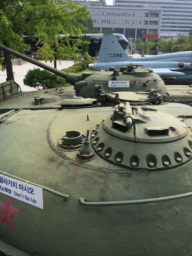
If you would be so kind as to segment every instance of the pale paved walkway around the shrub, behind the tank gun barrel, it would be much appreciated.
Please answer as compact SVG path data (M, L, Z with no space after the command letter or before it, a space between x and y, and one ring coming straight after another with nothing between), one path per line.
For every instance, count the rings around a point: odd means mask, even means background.
M40 62L54 67L54 62L50 63L49 61L47 61L47 63L45 63L44 60L39 60ZM74 64L73 61L70 60L61 60L61 65L59 64L59 61L57 61L57 69L61 70L63 68L68 68L70 66L72 66ZM18 85L20 85L22 92L29 92L29 91L34 91L34 88L31 88L29 86L24 85L23 83L23 79L27 73L27 71L29 69L33 69L33 68L38 68L38 66L29 63L29 62L25 62L23 63L23 65L14 65L13 66L13 72L14 72L14 80L16 83L18 83ZM40 67L39 67L40 68ZM40 68L43 69L43 68ZM0 70L0 83L6 82L6 71L1 71Z

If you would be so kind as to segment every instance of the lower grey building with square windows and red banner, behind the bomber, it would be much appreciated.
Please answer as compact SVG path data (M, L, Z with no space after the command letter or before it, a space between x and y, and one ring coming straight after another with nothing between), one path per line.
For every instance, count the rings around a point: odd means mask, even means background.
M148 9L106 5L104 1L82 1L81 3L88 6L94 28L101 33L113 29L126 38L142 37L142 34L149 38L157 37L159 34L160 6Z

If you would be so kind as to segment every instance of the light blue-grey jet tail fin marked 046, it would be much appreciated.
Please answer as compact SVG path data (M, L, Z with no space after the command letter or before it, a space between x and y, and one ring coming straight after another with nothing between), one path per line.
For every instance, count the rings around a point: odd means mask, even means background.
M131 60L121 47L114 34L103 34L98 62L114 62Z

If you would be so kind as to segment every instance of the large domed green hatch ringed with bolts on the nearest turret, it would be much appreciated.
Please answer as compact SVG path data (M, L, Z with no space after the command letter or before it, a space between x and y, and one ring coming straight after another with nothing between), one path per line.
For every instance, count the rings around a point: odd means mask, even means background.
M127 168L164 170L191 159L191 131L179 119L149 107L116 106L91 135L95 151Z

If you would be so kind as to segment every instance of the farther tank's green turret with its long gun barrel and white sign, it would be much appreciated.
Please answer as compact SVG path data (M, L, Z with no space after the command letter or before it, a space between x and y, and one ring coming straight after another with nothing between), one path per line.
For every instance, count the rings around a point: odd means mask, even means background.
M166 88L163 80L159 75L153 72L152 69L142 69L140 66L122 66L120 70L115 70L111 67L109 71L84 72L83 74L65 73L56 68L50 67L36 61L28 56L13 51L3 44L0 44L0 50L9 52L19 58L31 62L41 68L44 68L56 75L66 79L66 82L73 85L76 91L76 96L88 97L92 92L91 97L97 98L95 92L96 85L102 85L104 90L111 92L118 91L145 91L149 89L159 89L160 93L165 94ZM90 97L90 96L89 96ZM98 99L98 98L97 98Z

